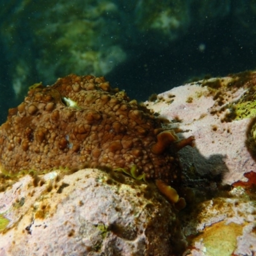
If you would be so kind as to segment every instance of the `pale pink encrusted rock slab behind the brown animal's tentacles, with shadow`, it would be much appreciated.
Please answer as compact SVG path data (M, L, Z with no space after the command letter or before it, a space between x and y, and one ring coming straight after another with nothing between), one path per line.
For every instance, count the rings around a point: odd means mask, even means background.
M245 144L250 118L227 118L232 106L248 91L246 84L227 88L234 79L185 84L161 93L155 102L146 102L148 108L171 121L170 128L178 127L186 138L195 136L195 148L180 150L183 168L193 165L201 175L222 173L222 183L229 185L244 180L246 172L256 172L256 163ZM214 83L221 84L215 89L211 87Z

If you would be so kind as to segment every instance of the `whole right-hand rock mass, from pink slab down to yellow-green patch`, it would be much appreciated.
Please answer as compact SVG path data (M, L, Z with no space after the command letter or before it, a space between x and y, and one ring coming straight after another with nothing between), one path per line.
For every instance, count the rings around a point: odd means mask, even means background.
M256 73L243 72L173 88L146 104L172 121L169 128L195 135L196 147L179 153L195 194L180 212L190 244L184 255L256 253L255 91Z

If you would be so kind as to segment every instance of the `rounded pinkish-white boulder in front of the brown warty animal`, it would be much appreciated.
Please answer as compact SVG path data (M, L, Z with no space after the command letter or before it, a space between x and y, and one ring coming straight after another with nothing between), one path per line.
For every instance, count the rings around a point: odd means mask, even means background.
M169 256L182 240L156 186L119 173L26 175L0 194L0 212L9 221L0 230L1 256Z

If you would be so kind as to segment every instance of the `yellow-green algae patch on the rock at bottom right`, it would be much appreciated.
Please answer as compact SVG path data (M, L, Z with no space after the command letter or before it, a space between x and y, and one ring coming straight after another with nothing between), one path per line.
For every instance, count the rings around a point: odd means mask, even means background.
M243 226L236 223L225 224L221 221L207 227L196 241L204 244L207 256L230 256L236 250L237 236L243 234Z

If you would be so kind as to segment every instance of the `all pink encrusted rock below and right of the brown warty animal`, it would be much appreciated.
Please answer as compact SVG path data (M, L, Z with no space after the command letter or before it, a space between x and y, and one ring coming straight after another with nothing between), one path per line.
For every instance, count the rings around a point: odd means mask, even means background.
M0 177L0 255L255 255L255 81L255 72L198 81L145 102L165 128L195 136L179 152L184 210L120 173Z

